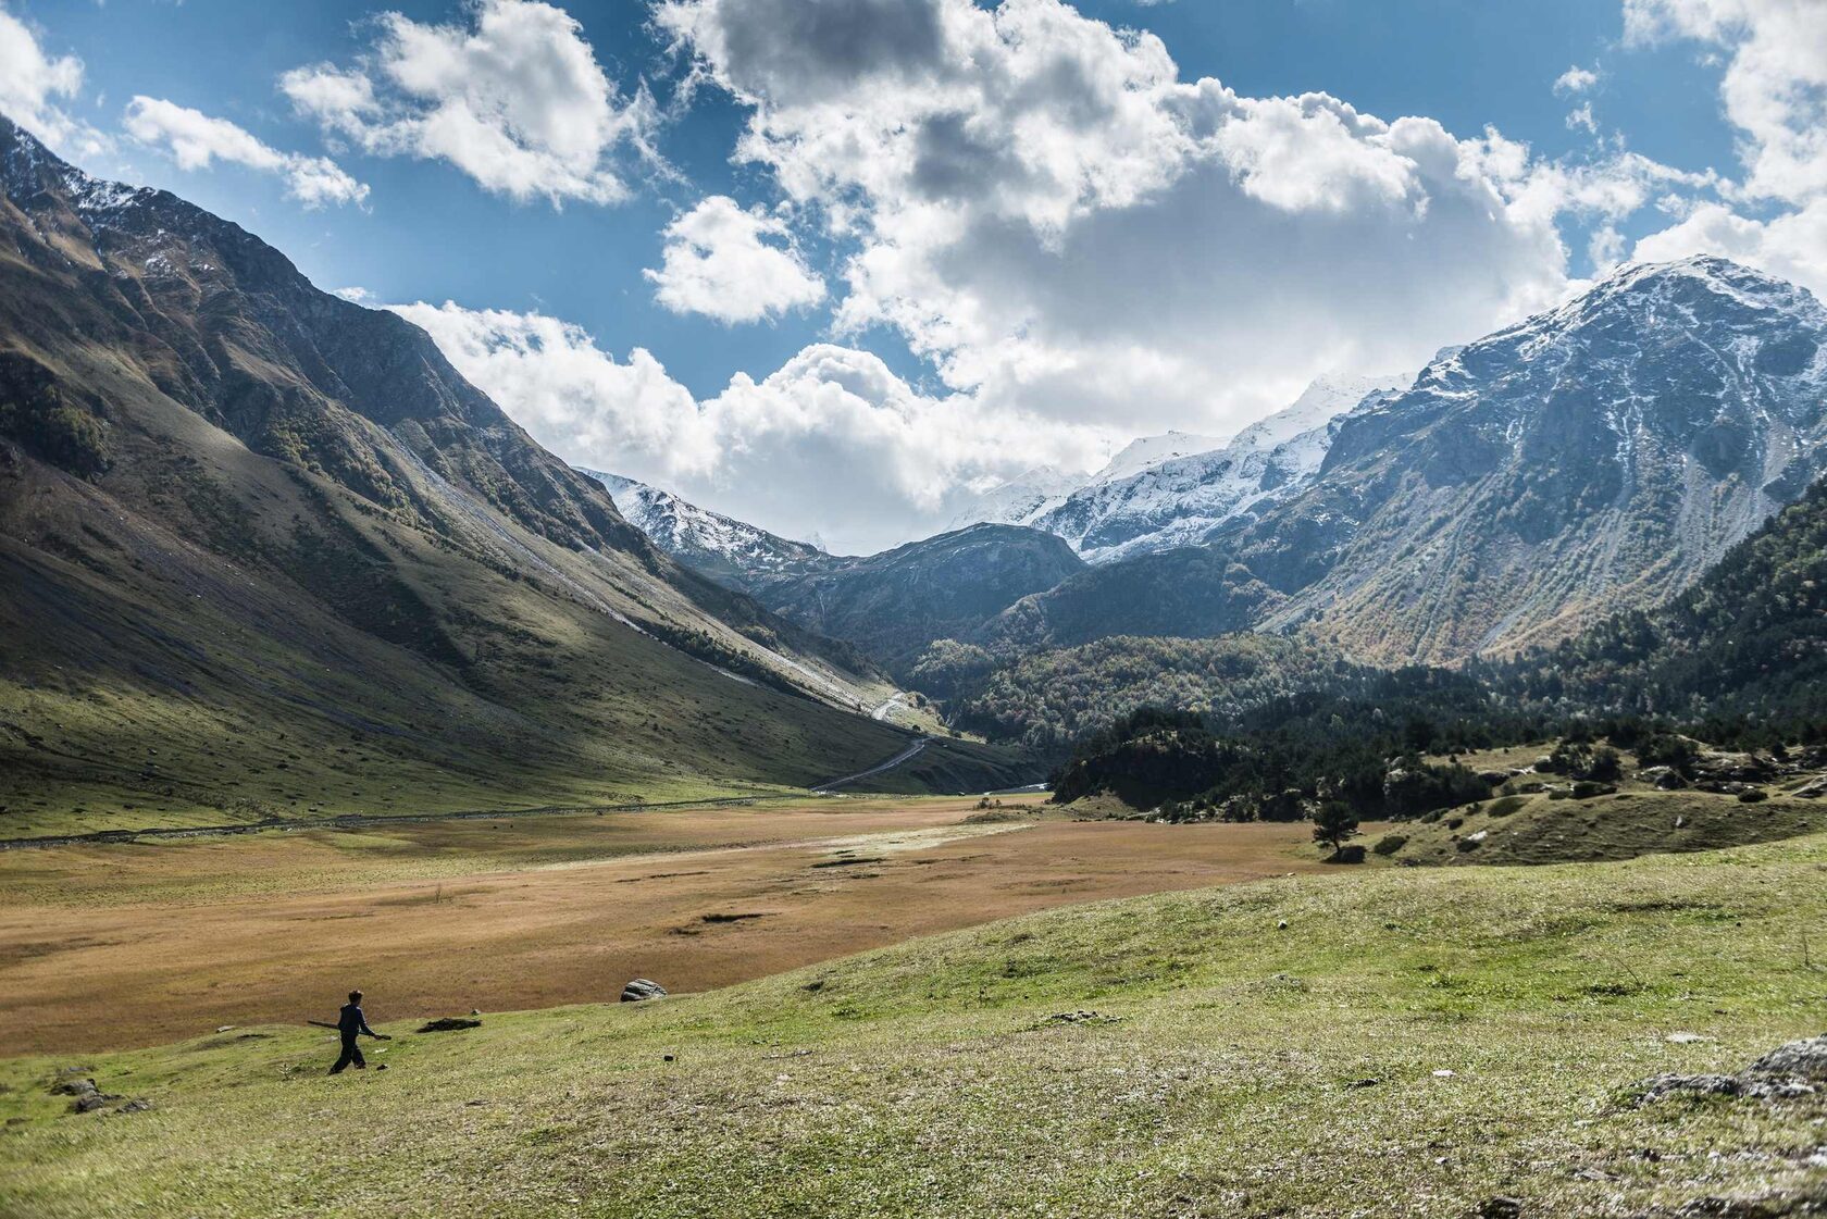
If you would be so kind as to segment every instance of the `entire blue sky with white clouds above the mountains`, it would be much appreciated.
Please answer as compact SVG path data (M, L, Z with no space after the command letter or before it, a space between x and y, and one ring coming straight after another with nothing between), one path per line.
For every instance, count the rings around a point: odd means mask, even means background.
M0 0L0 111L842 552L1621 261L1827 292L1827 0Z

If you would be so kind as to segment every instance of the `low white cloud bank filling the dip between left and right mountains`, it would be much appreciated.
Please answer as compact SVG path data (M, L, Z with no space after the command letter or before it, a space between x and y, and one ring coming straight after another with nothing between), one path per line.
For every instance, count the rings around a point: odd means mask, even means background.
M738 373L698 402L645 349L618 360L557 318L395 311L559 457L837 550L937 532L974 490L1036 462L1089 470L1114 440L968 395L923 395L881 358L829 344L762 380Z

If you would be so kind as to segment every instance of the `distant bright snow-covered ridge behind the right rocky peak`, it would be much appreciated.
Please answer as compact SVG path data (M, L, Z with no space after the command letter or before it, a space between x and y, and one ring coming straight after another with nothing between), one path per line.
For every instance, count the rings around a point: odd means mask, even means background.
M1058 534L1091 563L1199 545L1237 514L1306 486L1332 444L1334 420L1405 382L1403 376L1315 380L1292 406L1244 428L1230 444L1094 481L1036 515L1032 525Z

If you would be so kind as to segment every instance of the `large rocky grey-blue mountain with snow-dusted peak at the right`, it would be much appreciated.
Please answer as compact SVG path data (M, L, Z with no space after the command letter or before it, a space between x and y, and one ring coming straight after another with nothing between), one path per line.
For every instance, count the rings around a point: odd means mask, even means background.
M1231 515L1208 559L1087 572L1001 634L1239 623L1451 662L1663 603L1827 464L1823 344L1827 313L1789 283L1626 267L1343 417L1310 484Z

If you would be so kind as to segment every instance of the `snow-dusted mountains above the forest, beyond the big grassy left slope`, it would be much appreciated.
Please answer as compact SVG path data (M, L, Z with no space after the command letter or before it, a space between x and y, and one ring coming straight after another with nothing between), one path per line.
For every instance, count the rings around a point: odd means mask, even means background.
M934 641L1001 658L1233 631L1301 634L1361 663L1505 656L1666 603L1801 495L1823 470L1823 340L1809 292L1736 263L1624 267L1414 378L1315 382L1211 451L1144 444L1160 461L1021 514L1083 563L1052 552L983 596L950 590L988 610L1060 576L977 621L928 614L906 631L875 620L901 599L840 592L890 568L924 596L968 579L924 568L945 546L800 563L775 545L771 567L674 554L804 625L890 647L875 654L903 674L939 629L952 634Z

